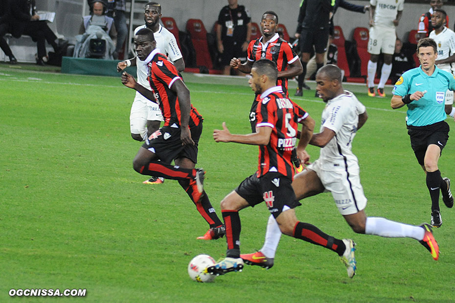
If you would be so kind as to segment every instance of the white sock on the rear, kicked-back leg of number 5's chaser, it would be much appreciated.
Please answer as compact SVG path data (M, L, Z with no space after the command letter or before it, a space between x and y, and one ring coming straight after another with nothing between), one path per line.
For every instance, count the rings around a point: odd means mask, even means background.
M367 217L365 234L376 235L386 238L414 238L423 240L425 230L420 226L414 226L380 217Z

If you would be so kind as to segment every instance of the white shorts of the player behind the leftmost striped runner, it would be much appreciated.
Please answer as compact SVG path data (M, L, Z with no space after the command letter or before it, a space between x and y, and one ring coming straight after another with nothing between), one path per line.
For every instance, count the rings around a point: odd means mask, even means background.
M130 112L131 133L138 133L144 138L147 135L147 120L162 121L159 105L137 93Z

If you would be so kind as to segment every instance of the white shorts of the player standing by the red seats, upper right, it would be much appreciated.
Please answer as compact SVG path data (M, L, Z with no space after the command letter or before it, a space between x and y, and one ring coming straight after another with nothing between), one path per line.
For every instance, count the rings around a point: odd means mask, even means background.
M368 40L368 53L379 55L381 50L384 54L393 55L397 35L395 28L371 26Z

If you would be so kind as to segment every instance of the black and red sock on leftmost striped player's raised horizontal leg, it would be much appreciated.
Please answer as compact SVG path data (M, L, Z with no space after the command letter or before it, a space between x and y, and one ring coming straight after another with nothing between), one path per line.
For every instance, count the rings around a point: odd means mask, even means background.
M139 173L171 180L193 179L196 176L195 169L175 167L161 161L150 161L148 165L140 168Z

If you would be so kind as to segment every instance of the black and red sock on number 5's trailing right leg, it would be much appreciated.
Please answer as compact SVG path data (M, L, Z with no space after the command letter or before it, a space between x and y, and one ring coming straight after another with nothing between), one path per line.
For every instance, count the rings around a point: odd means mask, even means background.
M297 222L296 227L294 227L293 237L324 246L336 252L339 256L342 256L346 250L343 240L333 238L309 223Z

